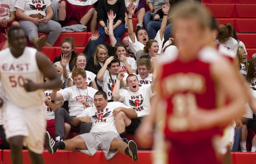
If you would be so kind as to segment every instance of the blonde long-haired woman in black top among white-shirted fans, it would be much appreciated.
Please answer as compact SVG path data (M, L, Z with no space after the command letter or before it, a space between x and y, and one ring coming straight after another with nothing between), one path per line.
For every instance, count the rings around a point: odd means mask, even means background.
M89 59L86 65L86 70L98 74L98 71L105 63L106 58L109 57L108 49L102 44L97 45L94 55Z

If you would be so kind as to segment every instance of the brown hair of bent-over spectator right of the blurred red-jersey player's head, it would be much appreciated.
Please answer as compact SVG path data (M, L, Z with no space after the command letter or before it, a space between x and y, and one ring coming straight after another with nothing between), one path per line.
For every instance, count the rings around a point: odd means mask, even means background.
M219 35L217 36L217 39L220 40L220 41L223 41L226 38L233 37L233 33L234 33L233 29L234 29L234 27L230 23L227 23L227 24L224 24L224 25L220 24L218 26Z

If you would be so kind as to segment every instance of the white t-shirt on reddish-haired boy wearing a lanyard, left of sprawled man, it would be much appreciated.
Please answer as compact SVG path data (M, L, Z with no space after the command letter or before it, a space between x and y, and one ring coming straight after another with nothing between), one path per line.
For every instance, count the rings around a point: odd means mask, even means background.
M64 101L69 101L70 116L77 116L82 112L82 110L86 108L82 103L77 101L78 98L85 98L87 103L93 106L94 94L96 92L97 90L91 87L87 87L86 90L82 90L76 86L72 86L63 90L59 90L57 93L62 95Z

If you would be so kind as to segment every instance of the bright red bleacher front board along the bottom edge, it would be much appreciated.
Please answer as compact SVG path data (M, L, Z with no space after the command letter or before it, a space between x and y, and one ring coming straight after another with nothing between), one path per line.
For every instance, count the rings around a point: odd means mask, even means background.
M0 160L2 159L3 164L11 163L10 150L0 150ZM45 163L61 163L61 164L83 164L83 163L98 163L98 164L107 164L107 163L146 163L151 164L152 154L154 151L148 150L139 150L138 157L139 159L134 162L129 156L121 154L118 152L113 158L106 160L104 153L102 151L97 151L96 154L92 157L90 155L84 154L78 150L65 151L58 150L54 154L50 154L47 150L44 150L43 156ZM31 163L28 155L28 150L23 150L24 154L24 163ZM248 164L256 162L256 153L242 153L242 152L232 152L232 163L233 164Z

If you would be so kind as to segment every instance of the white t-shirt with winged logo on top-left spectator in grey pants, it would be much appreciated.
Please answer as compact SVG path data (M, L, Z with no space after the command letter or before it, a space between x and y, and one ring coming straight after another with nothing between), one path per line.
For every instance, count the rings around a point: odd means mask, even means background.
M15 4L15 8L22 9L24 14L42 14L46 16L46 9L52 3L50 0L18 0Z

